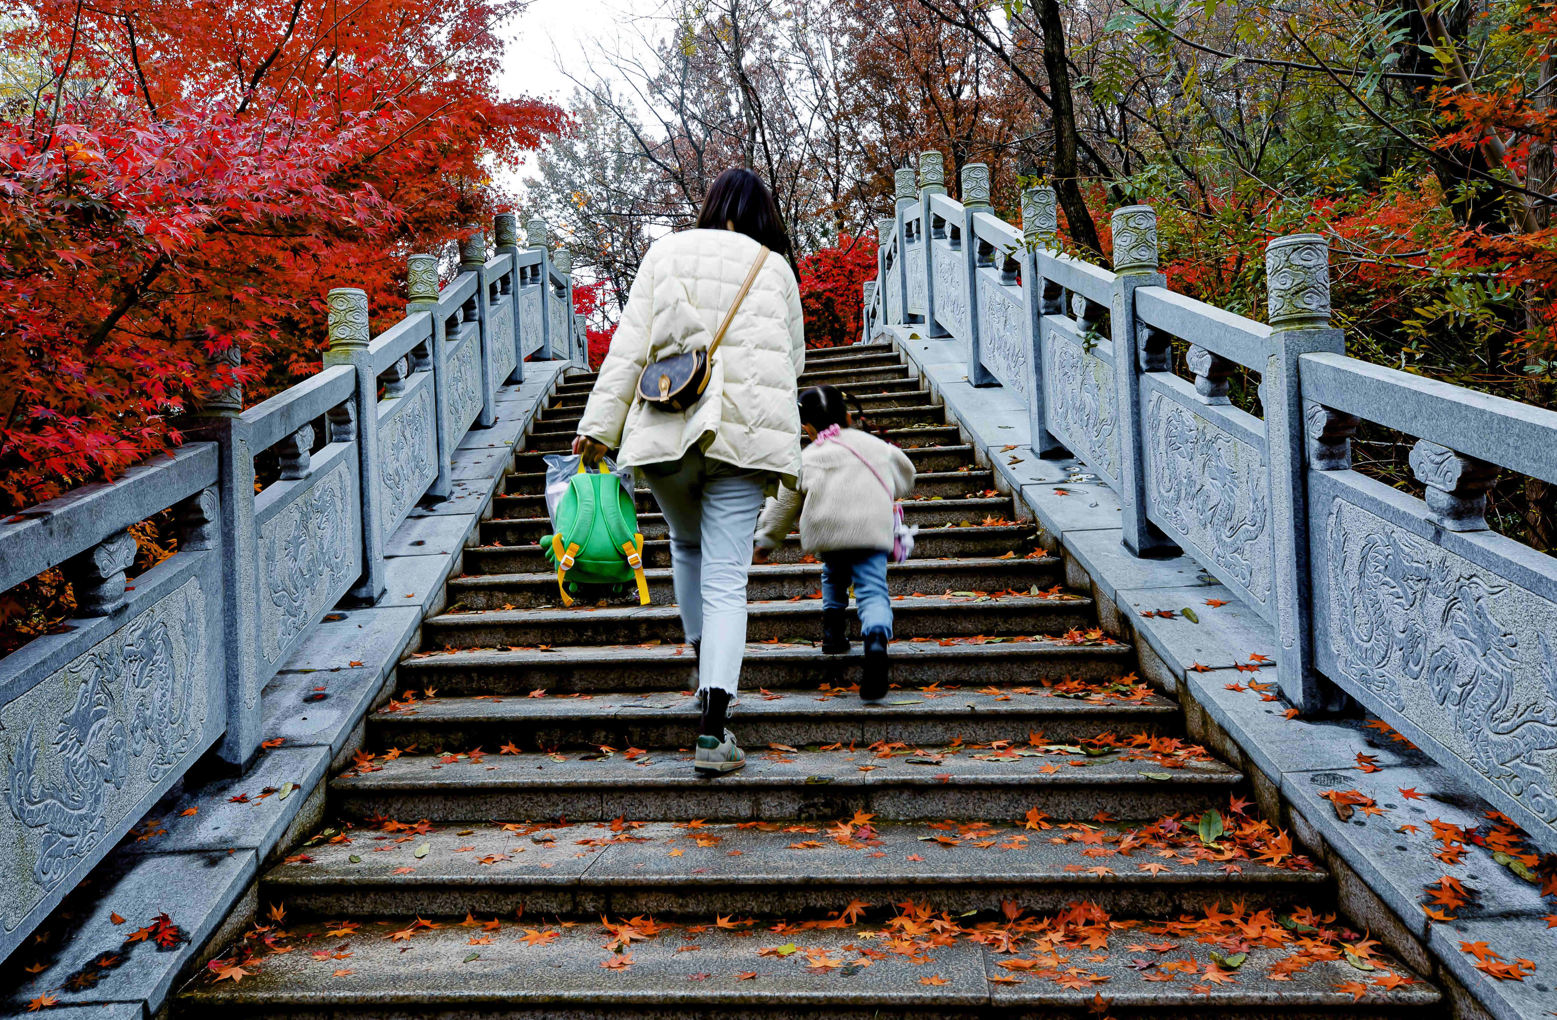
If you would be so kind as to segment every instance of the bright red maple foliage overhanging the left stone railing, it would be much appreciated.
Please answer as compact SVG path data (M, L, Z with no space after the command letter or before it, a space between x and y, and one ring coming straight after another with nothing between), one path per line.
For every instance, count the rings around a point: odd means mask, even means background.
M405 255L561 126L497 95L503 0L67 0L3 22L0 508L179 442L213 388L318 371L322 297L403 301ZM237 346L237 378L212 355Z

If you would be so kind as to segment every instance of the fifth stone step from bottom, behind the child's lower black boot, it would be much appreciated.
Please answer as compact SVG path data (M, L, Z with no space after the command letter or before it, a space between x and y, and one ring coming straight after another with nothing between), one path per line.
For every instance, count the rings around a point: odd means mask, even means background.
M1130 676L1135 649L1110 642L961 643L892 642L892 681L902 690L945 687L1042 687L1062 679L1102 684ZM811 645L747 645L741 687L749 691L814 691L821 684L859 682L861 649L824 656ZM685 645L627 645L606 648L481 649L416 652L400 662L400 691L431 687L441 696L603 695L617 691L677 691L696 682L696 660ZM760 695L758 695L760 696ZM1014 695L1015 696L1015 695Z

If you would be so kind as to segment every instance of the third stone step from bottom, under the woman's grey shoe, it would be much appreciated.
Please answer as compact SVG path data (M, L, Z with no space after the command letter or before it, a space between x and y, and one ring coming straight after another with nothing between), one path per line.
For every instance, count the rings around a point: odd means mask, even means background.
M1169 774L1157 761L1126 761L1119 754L981 761L964 752L936 765L911 765L905 757L878 758L864 749L749 751L746 768L718 779L699 776L690 751L652 751L632 760L621 754L601 758L598 752L490 754L478 763L402 755L375 761L377 771L343 772L330 780L330 797L347 818L383 814L434 824L623 816L772 822L847 818L853 811L881 821L998 819L1023 818L1031 808L1079 821L1099 811L1113 818L1200 814L1225 808L1242 783L1242 776L1221 761L1191 761ZM1079 768L1053 768L1067 761Z

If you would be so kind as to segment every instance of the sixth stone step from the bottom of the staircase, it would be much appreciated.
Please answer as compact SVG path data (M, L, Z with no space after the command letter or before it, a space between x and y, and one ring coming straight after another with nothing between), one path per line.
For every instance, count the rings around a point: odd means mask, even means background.
M1065 634L1093 626L1090 598L1000 600L906 596L892 601L892 631L898 638ZM789 637L814 638L822 631L822 600L750 603L746 635L752 642ZM849 631L859 623L849 609ZM515 609L447 612L422 623L427 648L506 648L509 645L637 645L682 640L674 606L573 606L571 609Z

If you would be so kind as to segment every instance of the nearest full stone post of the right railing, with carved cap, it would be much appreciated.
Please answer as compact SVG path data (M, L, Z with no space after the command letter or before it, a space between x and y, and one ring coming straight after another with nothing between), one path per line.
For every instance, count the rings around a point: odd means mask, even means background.
M1271 466L1272 589L1280 649L1277 684L1300 712L1325 712L1344 698L1314 670L1305 463L1309 425L1297 371L1297 360L1305 353L1345 353L1345 338L1330 325L1330 248L1325 238L1295 234L1266 244L1266 279L1272 332L1260 391ZM1322 425L1319 431L1323 434L1327 430Z

